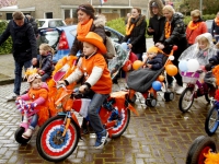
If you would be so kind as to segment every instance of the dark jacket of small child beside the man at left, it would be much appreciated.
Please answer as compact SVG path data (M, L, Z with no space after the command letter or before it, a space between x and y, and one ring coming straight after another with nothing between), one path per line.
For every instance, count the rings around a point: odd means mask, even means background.
M43 70L47 74L51 74L54 71L54 65L53 65L53 55L47 56L38 56L38 68Z

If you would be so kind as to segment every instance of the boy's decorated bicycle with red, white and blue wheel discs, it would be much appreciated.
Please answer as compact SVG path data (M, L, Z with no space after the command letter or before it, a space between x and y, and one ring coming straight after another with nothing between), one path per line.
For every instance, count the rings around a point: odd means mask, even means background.
M36 137L38 153L50 162L64 161L76 150L81 131L74 112L87 117L91 101L76 90L67 90L65 86L61 90L61 95L55 103L55 107L59 110L58 115L49 118L39 128ZM138 115L126 99L128 91L113 92L97 109L110 138L120 137L125 132L129 124L130 110Z

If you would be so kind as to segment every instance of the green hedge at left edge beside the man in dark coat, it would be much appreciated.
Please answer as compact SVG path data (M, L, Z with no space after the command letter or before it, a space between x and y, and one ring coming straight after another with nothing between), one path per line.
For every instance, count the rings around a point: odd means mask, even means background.
M0 20L0 35L7 28L8 22ZM12 39L9 37L1 46L0 46L0 55L10 54L12 51Z

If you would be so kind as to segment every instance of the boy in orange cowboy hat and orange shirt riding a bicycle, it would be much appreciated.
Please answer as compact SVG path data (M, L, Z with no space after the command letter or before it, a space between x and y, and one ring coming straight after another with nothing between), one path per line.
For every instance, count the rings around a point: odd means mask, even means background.
M78 39L83 42L83 57L79 59L76 71L58 83L69 85L84 75L85 82L79 87L79 91L84 93L91 89L94 92L88 116L90 125L96 133L94 147L99 149L105 144L108 137L108 132L104 129L97 113L104 99L112 92L111 73L103 57L106 47L102 37L93 32L89 32L85 37L78 37Z

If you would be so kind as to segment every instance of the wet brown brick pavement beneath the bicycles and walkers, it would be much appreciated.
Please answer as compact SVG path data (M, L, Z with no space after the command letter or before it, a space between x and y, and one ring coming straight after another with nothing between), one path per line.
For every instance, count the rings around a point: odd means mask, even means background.
M114 91L124 86L124 81L119 80ZM22 90L26 87L22 83ZM14 141L21 116L14 103L3 98L11 89L12 84L0 86L0 164L48 163L37 153L35 134L27 145ZM205 134L204 120L210 106L198 98L189 113L182 114L177 108L178 96L165 103L160 94L154 108L146 108L141 94L137 94L135 106L140 116L131 114L129 126L120 138L111 140L103 150L94 150L94 134L85 136L72 155L61 163L184 164L192 141Z

